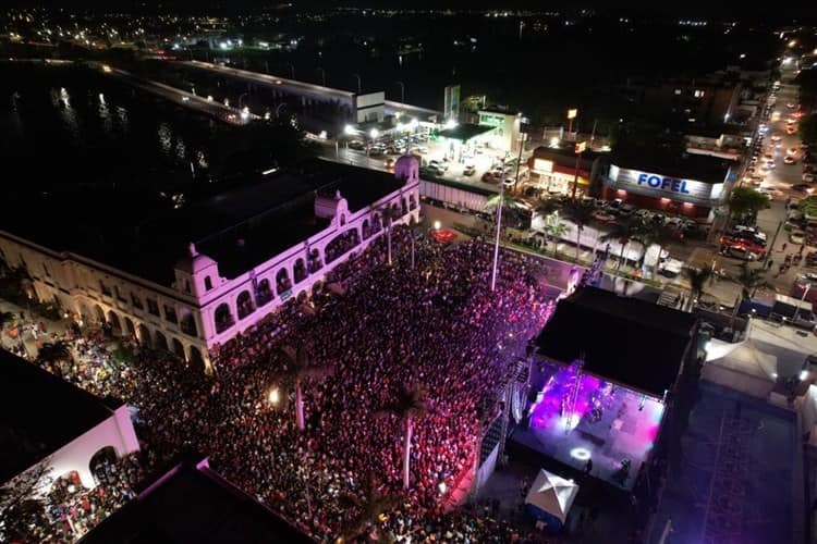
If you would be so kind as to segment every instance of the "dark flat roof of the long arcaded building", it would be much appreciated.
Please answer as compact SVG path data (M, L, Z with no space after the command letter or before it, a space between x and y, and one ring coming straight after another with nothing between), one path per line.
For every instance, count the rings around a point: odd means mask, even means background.
M139 213L136 200L95 193L70 206L64 199L47 203L38 221L10 209L0 214L0 228L170 286L190 243L218 261L221 275L234 277L326 228L328 220L315 215L316 196L340 191L354 212L402 185L387 172L310 159L178 210Z

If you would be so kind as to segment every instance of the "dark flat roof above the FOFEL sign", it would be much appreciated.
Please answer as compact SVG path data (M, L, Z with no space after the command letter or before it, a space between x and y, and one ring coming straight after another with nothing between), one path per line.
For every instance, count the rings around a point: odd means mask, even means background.
M664 149L614 150L610 163L619 168L638 170L680 180L703 183L723 183L732 161L718 157L674 152Z

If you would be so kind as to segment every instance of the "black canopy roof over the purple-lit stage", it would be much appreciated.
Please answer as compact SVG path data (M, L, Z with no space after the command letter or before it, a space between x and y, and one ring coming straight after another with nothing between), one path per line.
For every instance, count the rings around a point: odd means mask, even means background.
M539 354L662 396L675 382L697 318L637 298L583 287L559 302L536 338Z

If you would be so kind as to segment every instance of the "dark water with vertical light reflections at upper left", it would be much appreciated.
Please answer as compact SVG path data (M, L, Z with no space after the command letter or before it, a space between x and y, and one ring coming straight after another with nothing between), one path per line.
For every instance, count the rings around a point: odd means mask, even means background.
M214 120L82 67L0 63L7 189L206 180L220 131Z

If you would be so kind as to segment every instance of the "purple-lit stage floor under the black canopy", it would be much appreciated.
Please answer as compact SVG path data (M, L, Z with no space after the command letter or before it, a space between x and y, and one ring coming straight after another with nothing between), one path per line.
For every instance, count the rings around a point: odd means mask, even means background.
M577 375L575 368L553 369L531 407L529 426L516 429L513 440L581 471L592 459L589 475L631 490L658 434L663 404ZM629 470L622 469L625 459Z

